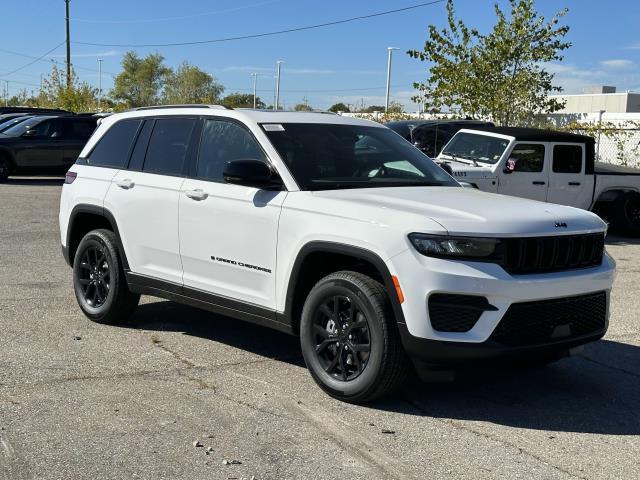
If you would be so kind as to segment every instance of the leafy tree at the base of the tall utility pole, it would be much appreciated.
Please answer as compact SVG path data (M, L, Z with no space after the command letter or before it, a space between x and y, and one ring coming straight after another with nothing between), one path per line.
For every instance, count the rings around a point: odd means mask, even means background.
M98 89L79 81L73 69L71 82L67 84L66 73L54 65L42 84L42 91L33 100L39 107L63 108L72 112L90 112L97 108Z

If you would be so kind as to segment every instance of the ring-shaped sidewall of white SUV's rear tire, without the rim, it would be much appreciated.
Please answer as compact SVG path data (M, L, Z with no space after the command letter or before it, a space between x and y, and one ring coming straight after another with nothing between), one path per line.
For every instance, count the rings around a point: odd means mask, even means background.
M111 280L109 293L107 295L106 301L99 307L92 307L87 303L82 292L82 286L78 281L82 257L84 256L85 250L90 247L102 248L105 252L107 263L109 264L109 274ZM80 308L85 313L85 315L87 315L91 319L99 320L109 313L117 296L119 274L120 272L114 246L111 245L111 242L109 242L108 239L104 238L100 233L89 232L80 242L73 261L73 289L76 294L78 304L80 305Z

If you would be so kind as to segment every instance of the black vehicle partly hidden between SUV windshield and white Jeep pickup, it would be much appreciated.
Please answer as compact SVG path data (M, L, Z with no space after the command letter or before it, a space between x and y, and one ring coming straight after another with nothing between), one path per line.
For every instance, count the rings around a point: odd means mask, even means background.
M401 120L387 122L385 126L435 158L451 137L462 128L493 127L492 122L481 120Z

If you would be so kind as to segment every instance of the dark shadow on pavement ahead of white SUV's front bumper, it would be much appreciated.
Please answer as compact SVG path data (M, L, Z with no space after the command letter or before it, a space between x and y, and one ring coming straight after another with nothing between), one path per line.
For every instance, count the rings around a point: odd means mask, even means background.
M609 340L547 367L469 371L407 385L376 408L515 428L640 435L640 347ZM410 388L409 388L410 387Z

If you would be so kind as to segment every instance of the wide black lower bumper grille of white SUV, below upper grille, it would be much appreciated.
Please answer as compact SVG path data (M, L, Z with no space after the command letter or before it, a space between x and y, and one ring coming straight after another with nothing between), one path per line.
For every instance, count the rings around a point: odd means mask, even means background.
M605 292L512 304L491 339L509 347L537 345L602 332L607 321Z

